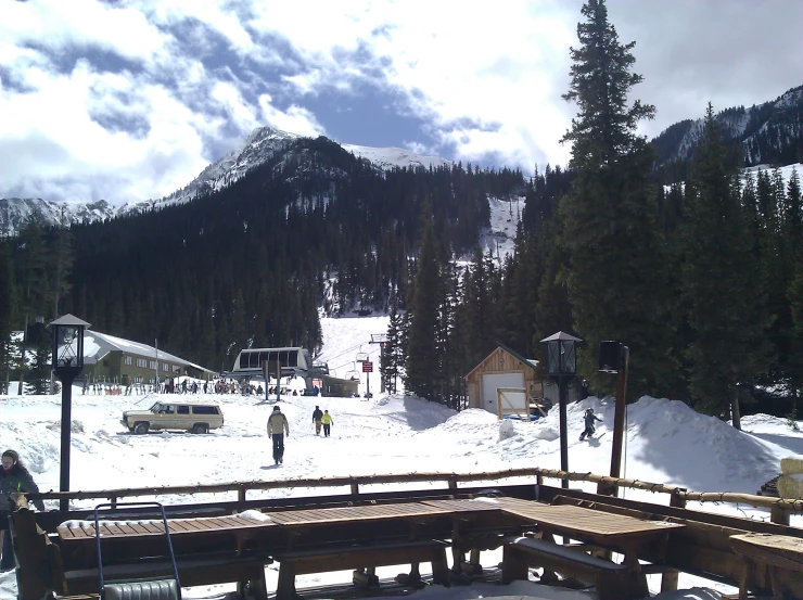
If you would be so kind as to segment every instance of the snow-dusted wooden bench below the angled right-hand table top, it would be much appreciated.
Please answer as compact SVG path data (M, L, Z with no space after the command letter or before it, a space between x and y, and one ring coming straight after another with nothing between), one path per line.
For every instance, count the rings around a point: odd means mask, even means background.
M530 537L506 537L502 552L502 584L527 580L532 565L594 584L599 600L643 598L641 576L624 564Z

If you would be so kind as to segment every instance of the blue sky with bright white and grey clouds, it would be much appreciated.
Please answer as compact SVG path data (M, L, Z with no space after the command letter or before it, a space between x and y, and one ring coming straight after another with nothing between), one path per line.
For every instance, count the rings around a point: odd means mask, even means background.
M0 0L0 197L183 187L255 127L564 165L582 0ZM800 0L609 0L654 136L803 84Z

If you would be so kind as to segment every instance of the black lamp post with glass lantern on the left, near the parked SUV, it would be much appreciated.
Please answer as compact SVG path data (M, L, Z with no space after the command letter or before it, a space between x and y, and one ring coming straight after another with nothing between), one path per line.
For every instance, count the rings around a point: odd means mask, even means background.
M53 370L62 382L62 448L59 490L69 490L69 434L73 423L73 381L84 369L84 330L89 325L64 315L49 325L53 330ZM69 500L59 500L59 510L68 511Z

